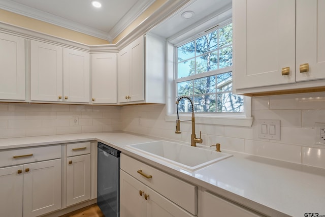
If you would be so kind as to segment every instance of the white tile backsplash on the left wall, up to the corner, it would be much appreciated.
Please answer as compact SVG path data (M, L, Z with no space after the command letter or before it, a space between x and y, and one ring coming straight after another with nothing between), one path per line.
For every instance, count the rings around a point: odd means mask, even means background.
M0 103L0 138L120 130L119 115L118 106Z

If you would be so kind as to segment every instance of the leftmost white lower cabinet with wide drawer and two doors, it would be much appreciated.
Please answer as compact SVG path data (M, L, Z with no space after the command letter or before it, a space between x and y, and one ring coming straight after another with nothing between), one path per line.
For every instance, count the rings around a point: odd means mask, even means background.
M61 208L61 145L4 150L0 159L6 166L0 169L0 216L34 217Z

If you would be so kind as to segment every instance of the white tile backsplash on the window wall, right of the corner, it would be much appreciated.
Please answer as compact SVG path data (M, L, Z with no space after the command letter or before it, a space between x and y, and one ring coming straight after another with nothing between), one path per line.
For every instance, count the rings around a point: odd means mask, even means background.
M325 168L325 145L315 145L315 122L325 123L325 92L252 98L253 126L196 126L204 145L221 144L221 149ZM257 138L258 119L281 120L281 140ZM190 142L190 123L165 121L165 105L124 106L122 129Z

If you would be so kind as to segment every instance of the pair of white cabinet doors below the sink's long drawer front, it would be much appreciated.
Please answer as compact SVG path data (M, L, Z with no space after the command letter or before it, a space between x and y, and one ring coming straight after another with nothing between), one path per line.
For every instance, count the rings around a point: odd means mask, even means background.
M120 171L120 216L194 216L131 175Z

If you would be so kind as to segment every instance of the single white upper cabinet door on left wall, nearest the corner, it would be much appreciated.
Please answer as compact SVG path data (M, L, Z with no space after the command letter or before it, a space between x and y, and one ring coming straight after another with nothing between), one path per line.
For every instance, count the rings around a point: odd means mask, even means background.
M92 103L117 103L117 54L92 54Z

